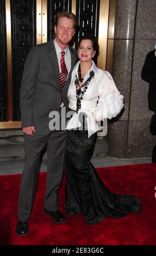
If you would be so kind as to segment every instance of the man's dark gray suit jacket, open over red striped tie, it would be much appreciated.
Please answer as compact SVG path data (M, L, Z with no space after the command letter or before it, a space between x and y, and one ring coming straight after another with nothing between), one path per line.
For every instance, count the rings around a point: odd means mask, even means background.
M49 130L49 113L60 108L61 96L68 108L68 88L77 52L69 46L71 70L61 92L59 64L53 40L31 48L25 60L20 108L22 127L35 126L37 133L46 135Z

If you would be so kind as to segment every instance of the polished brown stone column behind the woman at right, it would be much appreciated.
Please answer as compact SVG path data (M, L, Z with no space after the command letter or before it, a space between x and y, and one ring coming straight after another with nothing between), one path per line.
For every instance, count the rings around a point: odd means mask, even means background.
M113 70L115 84L124 95L125 107L118 120L109 122L110 156L151 156L148 84L140 74L147 52L156 43L156 1L116 0Z

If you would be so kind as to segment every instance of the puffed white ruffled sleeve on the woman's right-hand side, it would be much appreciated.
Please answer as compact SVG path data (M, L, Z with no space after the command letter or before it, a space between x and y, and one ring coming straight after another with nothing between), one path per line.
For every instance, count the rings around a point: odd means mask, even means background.
M98 105L95 109L96 120L116 117L124 106L124 96L116 88L111 74L107 71L104 72L105 76L99 91Z

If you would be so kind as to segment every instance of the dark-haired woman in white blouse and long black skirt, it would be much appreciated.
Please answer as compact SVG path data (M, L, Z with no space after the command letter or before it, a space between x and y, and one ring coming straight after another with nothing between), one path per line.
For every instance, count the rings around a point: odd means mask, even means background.
M119 218L140 211L140 200L133 195L114 194L100 180L90 159L97 131L96 120L120 113L123 96L111 74L98 69L92 58L98 50L96 38L85 35L79 42L76 63L68 90L69 108L74 111L66 127L66 213L82 213L89 224L107 216ZM84 118L85 117L85 118Z

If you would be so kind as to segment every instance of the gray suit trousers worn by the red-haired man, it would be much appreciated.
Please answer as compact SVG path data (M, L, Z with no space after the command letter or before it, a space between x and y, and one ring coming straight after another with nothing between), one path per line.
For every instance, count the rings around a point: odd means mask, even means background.
M19 192L18 220L27 222L34 204L41 151L47 144L48 166L44 208L56 211L66 152L67 131L51 131L48 135L25 135L25 166Z

